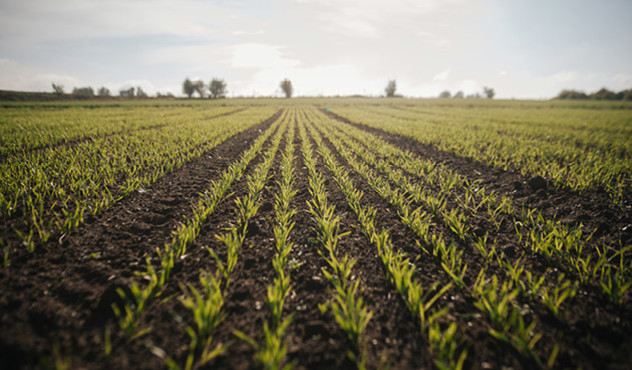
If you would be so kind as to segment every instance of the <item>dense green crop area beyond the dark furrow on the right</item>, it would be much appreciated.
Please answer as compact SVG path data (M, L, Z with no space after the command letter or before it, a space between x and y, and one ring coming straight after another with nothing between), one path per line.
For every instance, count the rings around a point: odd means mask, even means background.
M522 120L516 117L524 109L398 108L402 109L373 105L333 111L494 167L541 175L561 188L602 189L619 206L630 191L632 132L624 111L550 109L543 114L528 110Z

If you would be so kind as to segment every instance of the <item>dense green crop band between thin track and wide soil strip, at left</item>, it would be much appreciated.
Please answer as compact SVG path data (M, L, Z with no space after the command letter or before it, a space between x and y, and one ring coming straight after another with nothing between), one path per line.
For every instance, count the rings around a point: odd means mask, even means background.
M0 163L0 215L32 252L273 112L253 109L215 120L195 113L155 130L14 155Z

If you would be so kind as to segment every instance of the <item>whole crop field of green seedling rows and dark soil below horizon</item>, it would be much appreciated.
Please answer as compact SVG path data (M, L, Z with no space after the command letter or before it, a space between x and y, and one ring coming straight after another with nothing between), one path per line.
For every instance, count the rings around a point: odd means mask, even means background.
M13 368L632 367L632 104L3 103Z

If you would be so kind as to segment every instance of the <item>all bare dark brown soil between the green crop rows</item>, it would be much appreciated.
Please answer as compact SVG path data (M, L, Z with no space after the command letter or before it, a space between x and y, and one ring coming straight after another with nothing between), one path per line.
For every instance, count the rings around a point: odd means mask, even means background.
M472 162L453 153L437 150L412 139L350 122L344 117L326 112L342 122L373 133L381 139L428 160L443 163L471 180L499 194L509 195L519 209L522 205L541 211L546 217L562 220L568 225L582 223L593 233L593 239L608 245L632 242L630 198L624 211L616 209L605 192L577 194L555 188L550 183L530 186L530 178L515 171L502 171ZM85 221L70 235L58 235L32 254L22 253L12 258L12 265L0 269L0 361L2 368L39 368L69 361L71 368L88 369L156 369L165 367L165 357L184 363L189 337L182 321L189 322L190 313L177 300L184 284L196 283L201 269L214 271L215 261L205 247L223 257L216 234L236 219L233 200L248 191L246 178L262 160L264 150L249 165L248 170L231 189L232 193L209 217L199 237L187 250L186 258L177 262L174 276L162 297L143 318L141 326L151 326L149 334L126 343L112 312L120 305L117 288L128 289L143 270L147 258L155 258L155 248L168 243L172 231L183 222L197 202L201 192L217 179L250 144L279 118L280 112L259 125L228 139L221 145L163 177L143 192L134 193L106 211ZM312 143L313 144L313 143ZM332 143L328 148L336 153ZM294 145L295 183L297 190L291 207L297 211L295 226L290 234L294 248L290 260L298 266L290 271L292 291L284 310L293 315L285 335L287 360L296 368L333 369L355 368L348 358L350 343L337 322L318 305L331 299L330 286L322 274L326 267L318 254L315 241L315 221L307 212L310 199L307 170L301 157L301 140L296 135L289 143L284 138L271 169L271 176L261 198L262 206L248 225L244 247L231 285L225 294L226 319L218 328L214 341L228 345L227 351L208 364L208 368L258 368L253 360L254 349L234 335L239 330L258 338L263 322L270 315L264 301L266 287L272 282L274 254L275 194L280 178L279 163L285 145ZM358 222L338 188L332 173L322 158L315 155L317 170L325 177L329 202L336 206L344 236L340 250L357 259L353 268L355 279L361 282L359 294L373 318L366 329L368 368L390 366L394 369L433 368L433 356L428 349L419 323L408 312L404 301L386 278L377 252L359 231ZM404 226L397 211L381 198L345 159L336 154L339 163L350 172L354 185L363 191L362 201L377 210L376 223L389 229L394 245L406 252L421 272L417 277L424 286L435 282L447 283L449 277L437 257L424 254L417 246L417 236ZM627 208L626 208L627 207ZM479 227L485 227L484 224ZM505 240L507 254L518 254L524 248L512 236L513 226L505 225L498 238ZM503 239L504 238L504 239ZM470 266L466 278L472 282L481 258L461 243L465 262ZM555 268L548 262L530 255L529 262L545 271ZM544 332L542 343L555 339L560 345L556 367L584 369L632 367L632 300L629 295L621 305L609 303L593 286L581 286L581 299L575 299L565 320L553 316L540 303L529 305ZM488 333L490 324L477 315L473 299L457 288L445 294L440 303L449 306L447 321L456 322L465 330L468 350L466 368L496 369L503 367L534 368L512 347L494 340ZM112 354L105 356L105 331L112 334ZM552 338L551 333L564 333ZM538 354L548 354L550 346L538 347Z

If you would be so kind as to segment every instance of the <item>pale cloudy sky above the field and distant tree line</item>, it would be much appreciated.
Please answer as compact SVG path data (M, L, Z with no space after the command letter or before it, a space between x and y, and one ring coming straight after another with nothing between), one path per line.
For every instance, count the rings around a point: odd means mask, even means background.
M0 89L547 99L632 88L629 0L0 0Z

